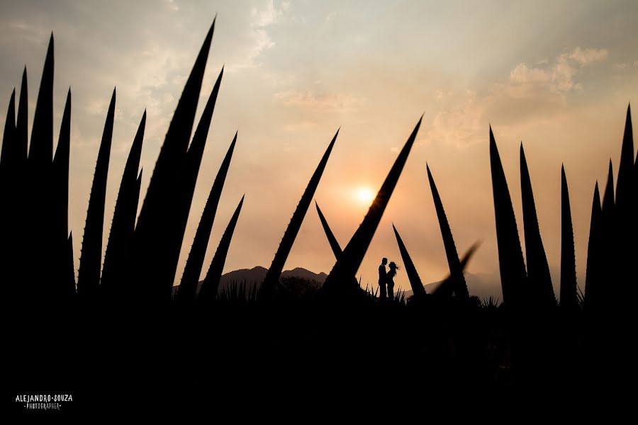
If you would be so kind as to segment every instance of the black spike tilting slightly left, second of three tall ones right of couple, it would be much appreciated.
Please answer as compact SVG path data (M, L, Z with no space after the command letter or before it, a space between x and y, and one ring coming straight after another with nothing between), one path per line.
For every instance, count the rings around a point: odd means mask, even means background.
M522 143L520 144L520 194L525 231L525 254L527 255L527 282L529 283L527 289L538 305L548 307L556 304L556 297L538 225L532 180Z

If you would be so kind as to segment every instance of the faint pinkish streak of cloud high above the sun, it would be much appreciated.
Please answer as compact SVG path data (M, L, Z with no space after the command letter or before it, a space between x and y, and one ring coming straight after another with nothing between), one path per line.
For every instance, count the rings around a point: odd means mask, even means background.
M320 111L352 112L365 100L351 94L313 93L310 91L280 91L274 94L277 101L287 106L297 106Z

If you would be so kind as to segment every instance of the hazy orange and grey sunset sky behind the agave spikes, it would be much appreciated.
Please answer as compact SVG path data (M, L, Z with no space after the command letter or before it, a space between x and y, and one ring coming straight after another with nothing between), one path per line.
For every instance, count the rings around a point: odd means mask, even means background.
M33 123L51 32L56 143L69 86L72 91L69 227L76 271L113 87L117 103L105 249L142 113L147 110L143 198L181 89L216 14L198 116L222 66L225 71L176 282L235 131L237 147L203 273L244 193L225 271L270 265L337 128L315 200L345 246L369 207L362 193L379 190L423 115L359 268L362 283L376 285L383 256L403 263L392 223L424 283L447 275L426 163L459 254L481 242L469 271L498 280L491 125L524 252L520 143L525 147L556 295L564 164L578 284L584 289L593 188L596 181L605 185L609 159L617 175L627 104L638 99L635 1L0 1L0 96L8 102L14 87L19 93L26 65ZM1 107L0 123L5 117ZM311 206L286 269L328 273L334 263ZM395 281L409 288L405 272Z

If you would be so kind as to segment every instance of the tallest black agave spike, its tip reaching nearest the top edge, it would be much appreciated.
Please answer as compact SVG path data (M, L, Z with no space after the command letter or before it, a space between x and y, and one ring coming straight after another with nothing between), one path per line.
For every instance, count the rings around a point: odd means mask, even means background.
M168 300L170 297L172 278L167 276L167 271L172 268L172 259L169 256L174 250L168 249L167 243L172 242L176 232L175 211L181 208L175 205L181 199L178 190L178 183L181 181L179 174L184 171L214 29L213 20L175 108L135 226L133 253L128 259L134 270L133 281L138 286L138 292L134 296L145 295L150 302L164 298ZM167 225L171 229L168 237L165 232Z

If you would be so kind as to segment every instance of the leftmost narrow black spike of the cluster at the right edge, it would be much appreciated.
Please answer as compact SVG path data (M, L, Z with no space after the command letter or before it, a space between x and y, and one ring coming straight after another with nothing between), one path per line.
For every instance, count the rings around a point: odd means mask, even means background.
M600 193L598 182L594 188L591 205L591 221L589 227L589 242L587 246L587 271L585 277L585 305L595 308L601 283L601 266L603 249L603 210L600 208Z

